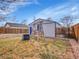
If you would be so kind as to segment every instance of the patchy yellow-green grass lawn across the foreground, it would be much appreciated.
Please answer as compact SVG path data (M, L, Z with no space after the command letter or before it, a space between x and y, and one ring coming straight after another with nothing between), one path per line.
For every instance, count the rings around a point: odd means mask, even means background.
M70 59L71 54L67 40L22 41L21 38L0 40L0 59ZM67 53L68 52L68 53Z

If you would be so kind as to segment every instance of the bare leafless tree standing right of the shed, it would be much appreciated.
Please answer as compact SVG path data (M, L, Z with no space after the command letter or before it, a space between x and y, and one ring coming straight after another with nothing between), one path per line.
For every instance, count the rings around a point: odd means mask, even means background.
M63 25L64 34L67 37L70 37L70 27L73 23L73 17L72 16L65 16L60 19L60 22Z

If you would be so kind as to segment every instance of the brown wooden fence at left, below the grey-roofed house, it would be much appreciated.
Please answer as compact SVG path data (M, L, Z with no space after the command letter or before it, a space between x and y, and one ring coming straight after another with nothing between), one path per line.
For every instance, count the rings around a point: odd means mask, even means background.
M9 34L9 33L27 33L27 29L16 29L16 28L0 28L0 33L1 34Z

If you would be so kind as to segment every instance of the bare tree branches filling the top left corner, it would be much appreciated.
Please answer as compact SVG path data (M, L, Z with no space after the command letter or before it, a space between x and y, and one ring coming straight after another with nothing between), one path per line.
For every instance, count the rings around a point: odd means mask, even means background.
M22 5L29 0L0 0L0 21L6 20L10 12L12 12L17 5Z

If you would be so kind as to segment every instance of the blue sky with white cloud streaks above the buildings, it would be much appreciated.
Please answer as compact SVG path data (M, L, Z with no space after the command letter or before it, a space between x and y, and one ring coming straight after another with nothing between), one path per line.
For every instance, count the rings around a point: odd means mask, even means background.
M11 5L8 12L0 11L0 13L8 14L8 20L5 22L22 23L23 20L26 20L29 24L34 17L36 19L51 17L52 20L58 22L63 16L73 15L77 18L75 23L79 23L78 6L79 0L28 0L28 2L18 3L18 6ZM0 23L3 25L4 22Z

